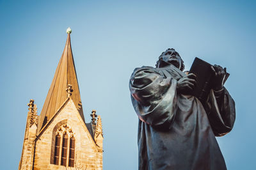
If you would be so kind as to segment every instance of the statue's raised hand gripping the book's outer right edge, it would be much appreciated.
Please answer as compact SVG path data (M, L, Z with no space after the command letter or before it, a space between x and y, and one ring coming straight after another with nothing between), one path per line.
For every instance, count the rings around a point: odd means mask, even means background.
M219 65L214 65L211 67L212 71L214 72L214 78L213 78L213 89L214 91L220 91L221 89L223 89L223 84L224 84L224 78L226 75L226 68L222 68Z

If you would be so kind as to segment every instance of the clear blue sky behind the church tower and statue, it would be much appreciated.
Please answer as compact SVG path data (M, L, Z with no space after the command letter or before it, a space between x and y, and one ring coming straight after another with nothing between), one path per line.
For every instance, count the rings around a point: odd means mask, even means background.
M64 49L67 27L86 122L102 116L104 169L138 169L138 118L128 88L134 68L168 47L189 70L197 56L226 66L234 129L218 138L228 169L256 169L255 1L0 0L1 169L17 169L29 99L39 112Z

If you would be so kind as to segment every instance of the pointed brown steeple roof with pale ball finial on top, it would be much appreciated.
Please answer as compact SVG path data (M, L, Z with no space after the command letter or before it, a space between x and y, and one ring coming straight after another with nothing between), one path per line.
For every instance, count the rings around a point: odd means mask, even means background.
M45 123L49 121L52 116L58 111L63 102L67 99L68 84L72 86L72 98L74 104L79 111L81 118L84 120L83 107L81 103L80 91L77 82L76 68L74 64L74 58L70 43L71 29L67 29L68 37L65 45L65 49L60 58L60 62L56 69L54 78L52 80L51 87L45 99L42 112L38 121L38 130L44 127Z

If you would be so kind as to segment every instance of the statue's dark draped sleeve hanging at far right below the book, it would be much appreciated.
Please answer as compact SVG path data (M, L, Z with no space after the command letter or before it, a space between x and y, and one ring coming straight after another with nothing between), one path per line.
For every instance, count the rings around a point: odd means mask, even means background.
M221 91L211 89L206 111L216 136L225 135L232 130L236 119L236 108L226 88Z

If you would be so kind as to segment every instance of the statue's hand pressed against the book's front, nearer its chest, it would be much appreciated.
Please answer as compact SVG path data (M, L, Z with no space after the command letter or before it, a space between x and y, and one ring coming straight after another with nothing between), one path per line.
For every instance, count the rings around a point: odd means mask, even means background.
M189 73L188 75L182 77L177 81L177 92L182 94L187 94L195 88L196 75L194 73Z

